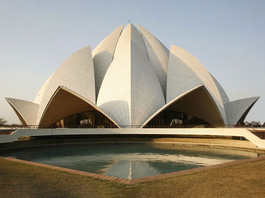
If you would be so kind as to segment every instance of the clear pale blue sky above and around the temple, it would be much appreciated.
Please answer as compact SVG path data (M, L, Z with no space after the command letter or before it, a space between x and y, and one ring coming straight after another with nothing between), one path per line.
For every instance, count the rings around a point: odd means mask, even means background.
M246 120L265 121L264 0L0 0L0 117L20 123L4 97L33 101L69 55L130 18L198 58L230 101L261 96Z

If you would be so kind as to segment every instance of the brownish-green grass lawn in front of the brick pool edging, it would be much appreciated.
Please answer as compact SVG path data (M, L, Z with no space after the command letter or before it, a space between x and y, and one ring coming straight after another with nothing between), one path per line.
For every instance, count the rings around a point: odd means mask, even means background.
M0 159L0 197L265 197L265 160L133 185Z

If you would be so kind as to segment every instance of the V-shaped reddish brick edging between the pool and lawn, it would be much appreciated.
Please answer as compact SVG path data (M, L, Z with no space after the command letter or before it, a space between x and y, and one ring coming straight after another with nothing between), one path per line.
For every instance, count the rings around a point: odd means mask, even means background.
M210 165L210 166L203 166L203 167L193 168L193 169L188 169L188 170L180 170L180 171L169 172L169 173L164 173L164 174L160 174L160 175L140 177L140 178L136 178L136 179L132 179L132 180L119 178L119 177L112 177L112 176L102 175L102 174L97 174L97 173L92 173L92 172L85 172L85 171L81 171L81 170L63 168L63 167L59 167L59 166L41 164L41 163L31 162L31 161L26 161L26 160L19 160L19 159L3 157L3 156L0 156L0 158L5 159L5 160L9 160L9 161L18 162L18 163L24 163L24 164L40 166L40 167L46 167L46 168L51 168L54 170L60 170L60 171L64 171L64 172L76 173L76 174L84 175L84 176L88 176L88 177L94 177L94 178L99 178L99 179L103 179L103 180L120 182L123 184L135 184L135 183L139 183L139 182L158 180L158 179L162 179L162 178L166 178L166 177L173 177L176 175L184 175L184 174L191 173L191 172L209 170L209 169L213 169L213 168L217 168L217 167L223 167L223 166L241 164L241 163L251 162L251 161L256 161L256 160L262 160L262 159L265 159L265 156L257 157L257 158L248 158L248 159L244 159L244 160L236 160L236 161L232 161L232 162L226 162L226 163Z

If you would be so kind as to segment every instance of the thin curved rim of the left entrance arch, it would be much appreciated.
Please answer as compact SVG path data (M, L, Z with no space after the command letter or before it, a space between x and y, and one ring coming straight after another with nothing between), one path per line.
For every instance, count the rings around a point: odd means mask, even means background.
M49 108L50 104L52 103L54 97L57 95L57 93L60 91L60 90L64 90L66 92L68 92L69 94L72 94L74 96L76 96L77 98L79 98L80 100L84 101L85 103L87 103L89 106L92 107L92 109L96 110L96 111L100 111L102 114L104 114L105 116L107 116L115 125L117 125L117 127L120 128L120 126L116 123L116 121L114 119L112 119L111 116L109 116L108 114L106 114L104 111L102 111L102 109L100 109L97 105L95 105L94 103L92 103L91 101L89 101L88 99L82 97L81 95L77 94L76 92L73 92L72 90L66 88L66 87L62 87L62 86L58 86L58 88L56 89L56 91L54 92L54 94L52 95L51 99L49 100L47 106L45 107L45 110L42 114L42 117L40 119L40 122L39 122L39 125L42 125L43 123L43 119L44 119L44 116L45 114L47 113L47 109ZM77 113L80 113L80 112L77 112ZM73 114L71 114L73 115ZM67 115L67 116L71 116L71 115ZM67 117L66 116L66 117ZM64 118L64 117L63 117ZM62 118L61 118L62 119ZM59 119L58 119L59 120ZM58 120L56 120L55 122L57 122Z

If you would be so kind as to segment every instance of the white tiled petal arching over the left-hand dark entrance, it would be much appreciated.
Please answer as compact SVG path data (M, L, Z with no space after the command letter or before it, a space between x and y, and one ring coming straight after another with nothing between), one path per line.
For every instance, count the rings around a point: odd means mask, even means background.
M95 75L90 45L72 53L52 75L40 102L37 123L43 115L52 94L63 85L96 103Z

